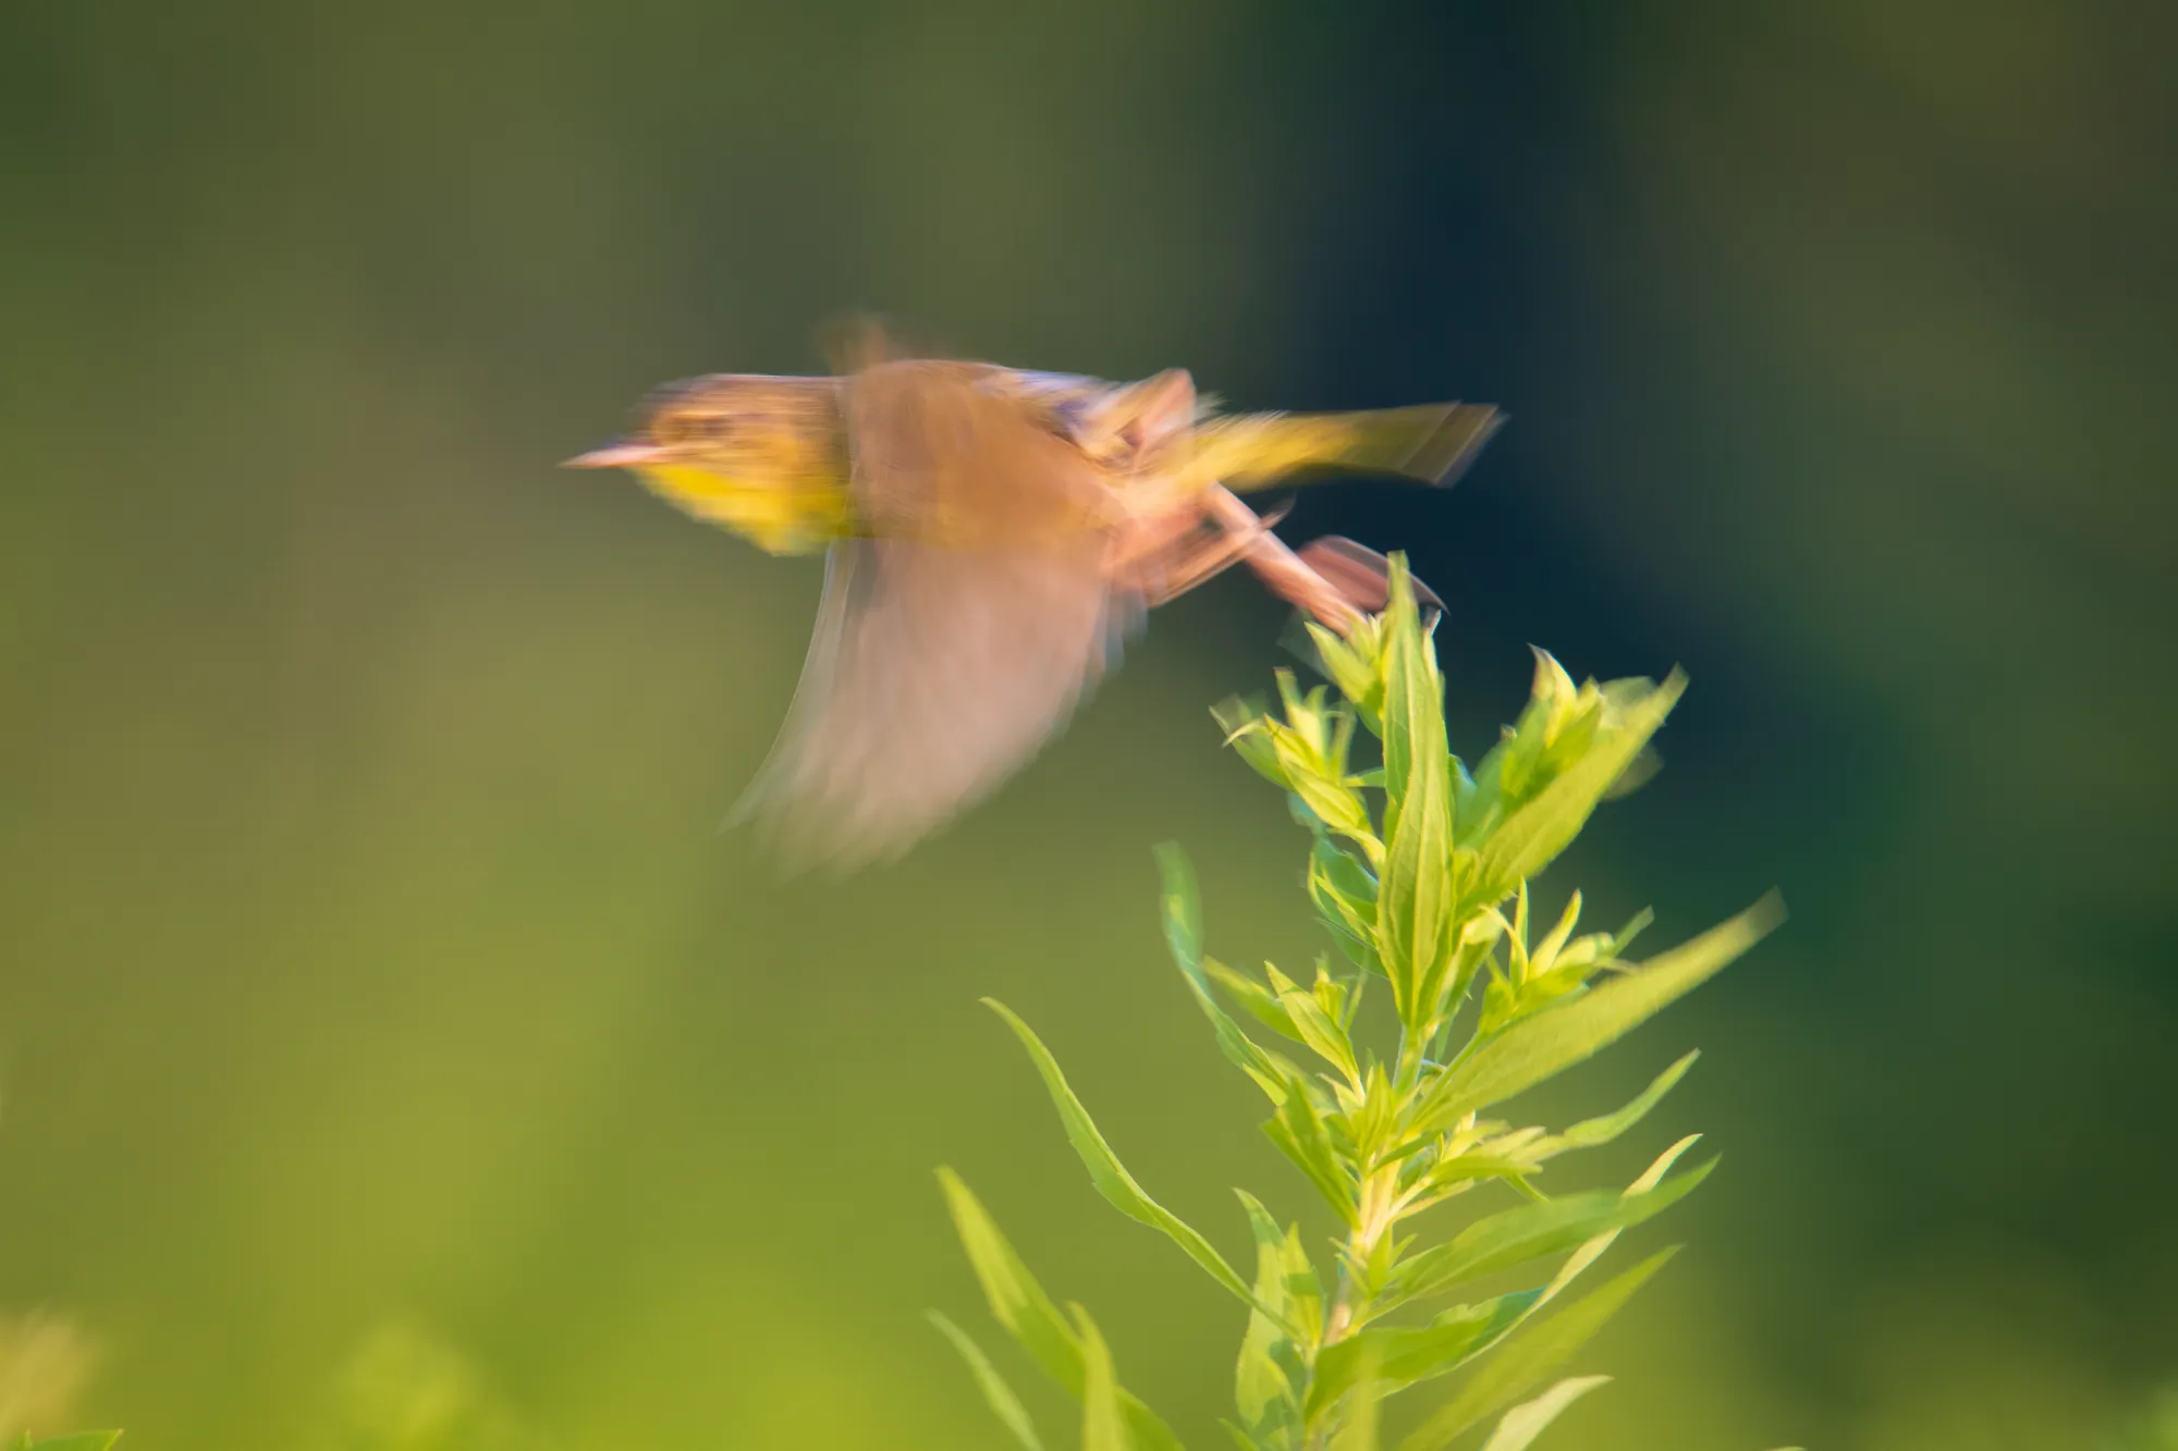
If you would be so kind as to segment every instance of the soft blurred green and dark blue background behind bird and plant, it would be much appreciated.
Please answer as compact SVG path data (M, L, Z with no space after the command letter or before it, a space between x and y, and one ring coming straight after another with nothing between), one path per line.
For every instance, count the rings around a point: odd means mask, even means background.
M1470 756L1527 643L1692 673L1546 895L1795 917L1533 1096L1699 1044L1559 1172L1725 1153L1549 1444L2097 1444L2178 1373L2174 41L1958 0L13 0L0 1309L78 1325L78 1420L146 1449L320 1436L388 1325L573 1451L1000 1447L919 1322L995 1340L943 1161L1222 1442L1239 1312L974 1002L1231 1253L1228 1185L1300 1203L1150 865L1191 848L1220 954L1318 950L1207 715L1281 610L1220 580L956 830L780 882L719 824L819 569L553 468L862 305L1241 405L1496 401L1457 490L1285 534L1414 553Z

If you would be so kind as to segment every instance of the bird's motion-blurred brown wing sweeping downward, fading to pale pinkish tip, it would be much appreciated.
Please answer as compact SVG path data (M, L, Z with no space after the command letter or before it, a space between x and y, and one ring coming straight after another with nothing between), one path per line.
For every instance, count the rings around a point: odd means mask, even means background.
M847 383L854 499L802 684L743 813L802 863L897 856L1017 771L1139 610L1106 584L1104 486L978 364Z

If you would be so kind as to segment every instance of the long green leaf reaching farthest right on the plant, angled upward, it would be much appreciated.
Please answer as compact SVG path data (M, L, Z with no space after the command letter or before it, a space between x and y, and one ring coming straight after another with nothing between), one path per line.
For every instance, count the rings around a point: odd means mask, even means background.
M1588 1059L1712 978L1779 922L1784 898L1771 891L1738 917L1660 952L1642 967L1522 1017L1429 1085L1416 1126L1448 1126Z

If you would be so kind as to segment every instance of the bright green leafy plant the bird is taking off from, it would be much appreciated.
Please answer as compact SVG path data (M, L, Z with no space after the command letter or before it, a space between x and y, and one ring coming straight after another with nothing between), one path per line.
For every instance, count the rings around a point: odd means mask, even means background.
M1649 739L1684 675L1575 686L1538 651L1533 697L1470 773L1446 745L1431 627L1403 560L1392 603L1355 638L1318 627L1309 636L1339 699L1322 686L1300 693L1281 671L1278 715L1231 702L1218 719L1309 830L1307 891L1344 967L1320 956L1302 983L1268 963L1255 976L1204 956L1189 863L1170 845L1159 863L1172 956L1224 1057L1270 1100L1263 1131L1337 1216L1331 1259L1241 1192L1257 1255L1252 1275L1235 1270L1122 1168L1028 1024L989 1007L1035 1061L1098 1192L1248 1307L1226 1423L1239 1447L1363 1451L1376 1444L1381 1399L1459 1370L1461 1383L1400 1451L1433 1451L1490 1420L1485 1451L1518 1451L1601 1383L1555 1377L1673 1251L1579 1298L1570 1285L1620 1231L1699 1185L1714 1159L1675 1174L1688 1137L1625 1190L1551 1196L1535 1183L1559 1155L1634 1129L1692 1052L1634 1102L1559 1133L1490 1113L1703 983L1775 928L1784 909L1771 893L1640 965L1625 952L1647 913L1616 932L1575 935L1573 893L1553 926L1538 932L1540 919L1531 922L1529 880L1599 802L1644 773ZM1357 732L1381 741L1381 767L1350 758ZM1390 996L1392 1022L1379 1013L1366 1024L1363 996ZM1383 1033L1372 1037L1370 1026ZM1305 1070L1289 1057L1300 1052L1316 1063ZM1176 1451L1172 1429L1119 1386L1089 1314L1080 1305L1061 1314L969 1187L950 1170L939 1181L993 1318L1080 1401L1085 1451ZM1505 1203L1490 1207L1485 1192ZM1475 1205L1457 1233L1416 1222L1448 1200ZM1555 1268L1540 1283L1479 1294L1481 1281L1546 1261ZM952 1320L932 1318L1013 1438L1041 1451L991 1359Z

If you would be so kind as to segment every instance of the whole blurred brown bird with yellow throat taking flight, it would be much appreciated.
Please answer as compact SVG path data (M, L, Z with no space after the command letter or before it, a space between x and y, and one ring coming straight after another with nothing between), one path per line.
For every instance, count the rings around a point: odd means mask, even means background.
M1287 549L1237 495L1346 471L1451 481L1488 405L1218 414L1172 368L1139 383L906 355L873 322L832 377L708 375L566 460L629 468L769 553L825 553L786 726L736 819L797 863L893 858L1013 776L1141 617L1246 562L1342 634L1385 562Z

